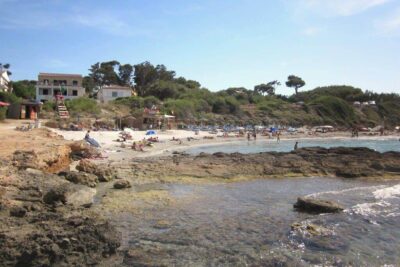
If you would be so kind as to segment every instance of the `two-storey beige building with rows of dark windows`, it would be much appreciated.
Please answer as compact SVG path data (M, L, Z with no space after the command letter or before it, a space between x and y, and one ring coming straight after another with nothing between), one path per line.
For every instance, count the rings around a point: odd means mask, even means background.
M80 74L39 73L36 100L52 101L57 94L62 94L66 100L82 97L85 95L82 81Z

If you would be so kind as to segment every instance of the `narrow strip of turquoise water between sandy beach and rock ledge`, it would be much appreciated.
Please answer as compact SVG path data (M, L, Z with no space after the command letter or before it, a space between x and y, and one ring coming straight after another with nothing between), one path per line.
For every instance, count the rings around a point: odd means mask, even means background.
M199 154L201 152L215 153L259 153L267 151L289 152L293 150L295 142L299 142L300 147L368 147L379 152L400 151L400 142L397 139L302 139L302 140L257 140L257 141L242 141L232 142L229 144L209 145L194 147L186 150L189 154Z

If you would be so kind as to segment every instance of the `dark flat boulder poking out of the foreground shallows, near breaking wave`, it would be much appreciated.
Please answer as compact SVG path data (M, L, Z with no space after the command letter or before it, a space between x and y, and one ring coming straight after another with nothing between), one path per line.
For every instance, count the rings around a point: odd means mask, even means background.
M334 213L344 210L344 208L336 202L306 197L299 197L297 203L294 204L294 208L298 211L314 214Z

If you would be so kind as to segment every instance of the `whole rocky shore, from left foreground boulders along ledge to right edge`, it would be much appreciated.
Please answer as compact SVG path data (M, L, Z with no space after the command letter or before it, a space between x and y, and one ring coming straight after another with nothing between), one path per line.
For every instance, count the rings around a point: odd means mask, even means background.
M99 210L90 208L100 182L124 190L169 182L400 177L400 153L367 148L302 148L246 155L176 152L138 158L128 165L85 159L96 153L74 142L41 154L16 151L11 160L0 162L0 262L5 266L99 265L118 255L120 234ZM80 159L73 171L69 168L72 159Z

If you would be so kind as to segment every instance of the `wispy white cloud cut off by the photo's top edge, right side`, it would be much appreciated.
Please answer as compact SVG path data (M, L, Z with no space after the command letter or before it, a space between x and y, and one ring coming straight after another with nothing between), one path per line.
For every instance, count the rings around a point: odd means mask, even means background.
M351 16L392 0L299 0L301 8L322 16Z

